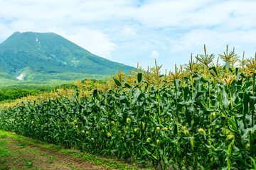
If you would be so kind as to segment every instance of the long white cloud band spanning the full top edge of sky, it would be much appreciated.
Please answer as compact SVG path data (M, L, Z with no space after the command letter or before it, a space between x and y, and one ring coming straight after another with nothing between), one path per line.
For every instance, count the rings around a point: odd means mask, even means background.
M84 24L91 22L136 21L151 28L193 28L198 26L239 26L252 28L256 1L173 0L0 1L1 17L7 21L23 18L33 23ZM10 10L11 9L11 10ZM237 22L240 21L240 22ZM231 28L231 27L230 27ZM234 28L234 27L233 27Z

